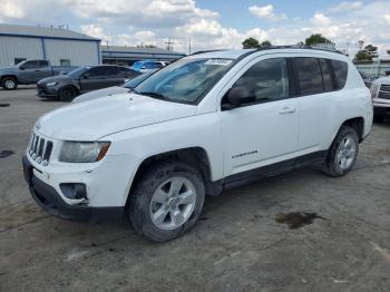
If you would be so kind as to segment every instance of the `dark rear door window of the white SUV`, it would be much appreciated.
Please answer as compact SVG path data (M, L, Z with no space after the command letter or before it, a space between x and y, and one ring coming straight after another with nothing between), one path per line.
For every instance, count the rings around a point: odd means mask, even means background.
M323 93L322 75L316 58L294 58L301 96Z

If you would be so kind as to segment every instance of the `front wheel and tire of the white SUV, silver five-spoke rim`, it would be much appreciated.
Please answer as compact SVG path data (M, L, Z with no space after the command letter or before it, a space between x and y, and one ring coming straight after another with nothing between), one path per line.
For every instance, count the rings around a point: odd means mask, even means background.
M178 186L179 179L183 182L182 187ZM175 193L172 192L175 188L173 185L179 189L176 195L169 196ZM183 194L191 194L191 191L195 193L191 196L194 198L193 205L182 205L181 203L185 202ZM136 183L130 194L127 214L138 234L153 242L166 242L184 234L195 224L204 198L205 187L199 172L176 160L157 163ZM188 195L187 199L191 201ZM159 203L163 201L164 203Z

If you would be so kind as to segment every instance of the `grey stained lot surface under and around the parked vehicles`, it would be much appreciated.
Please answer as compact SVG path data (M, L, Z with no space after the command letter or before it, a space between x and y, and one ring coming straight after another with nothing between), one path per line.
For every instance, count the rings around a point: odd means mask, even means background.
M207 197L185 236L153 244L126 220L61 221L36 205L21 155L35 120L64 106L0 90L0 291L377 291L390 286L390 121L354 171L305 168ZM279 213L323 218L289 230Z

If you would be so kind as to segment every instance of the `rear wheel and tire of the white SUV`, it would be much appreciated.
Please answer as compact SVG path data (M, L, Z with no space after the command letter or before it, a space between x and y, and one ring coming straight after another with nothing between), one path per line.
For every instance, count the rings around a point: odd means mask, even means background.
M331 177L348 174L358 157L359 137L357 130L350 126L342 126L328 150L322 172Z

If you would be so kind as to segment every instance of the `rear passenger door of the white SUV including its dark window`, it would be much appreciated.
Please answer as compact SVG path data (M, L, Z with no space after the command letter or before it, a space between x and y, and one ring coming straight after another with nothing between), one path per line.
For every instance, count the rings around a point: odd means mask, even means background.
M342 74L335 77L333 68L339 62L314 57L292 58L300 108L299 148L302 154L326 150L333 140L340 98L338 88L345 84Z

